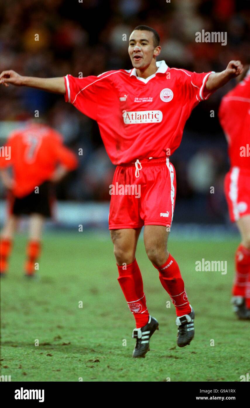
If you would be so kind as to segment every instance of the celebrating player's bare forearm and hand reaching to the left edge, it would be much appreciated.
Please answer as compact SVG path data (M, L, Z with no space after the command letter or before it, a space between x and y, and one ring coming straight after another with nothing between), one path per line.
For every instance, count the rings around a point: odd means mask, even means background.
M30 86L32 88L41 89L43 91L61 93L64 95L66 93L64 78L36 78L36 77L26 77L19 75L17 72L2 71L0 74L0 84L4 86L9 86L9 84L16 86Z

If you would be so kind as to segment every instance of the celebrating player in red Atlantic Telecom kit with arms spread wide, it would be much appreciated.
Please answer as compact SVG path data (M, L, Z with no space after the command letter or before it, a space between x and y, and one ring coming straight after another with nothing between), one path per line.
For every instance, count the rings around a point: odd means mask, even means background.
M177 344L183 347L193 339L194 311L178 264L167 251L176 197L170 155L180 145L192 109L242 69L239 61L229 62L220 73L170 68L165 61L157 62L159 41L154 29L136 27L128 47L133 69L97 77L30 78L14 71L0 75L5 86L26 85L64 94L66 102L98 122L107 153L117 165L113 186L125 188L125 194L111 195L109 229L118 282L136 322L133 357L145 357L150 337L158 328L157 320L149 315L135 259L142 226L148 258L176 308ZM133 186L132 193L126 194L129 186ZM133 194L135 190L140 194Z

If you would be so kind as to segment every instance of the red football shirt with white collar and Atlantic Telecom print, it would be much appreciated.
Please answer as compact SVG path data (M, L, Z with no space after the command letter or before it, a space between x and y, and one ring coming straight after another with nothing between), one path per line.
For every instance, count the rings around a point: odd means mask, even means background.
M135 68L64 77L66 102L98 122L113 164L172 154L192 109L210 95L205 84L211 72L169 68L165 61L157 67L146 79Z

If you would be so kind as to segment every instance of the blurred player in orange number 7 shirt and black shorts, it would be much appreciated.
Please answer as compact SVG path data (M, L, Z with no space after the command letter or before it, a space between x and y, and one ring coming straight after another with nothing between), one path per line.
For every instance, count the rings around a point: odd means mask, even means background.
M12 176L8 167L12 168ZM13 131L1 147L0 176L8 190L9 212L0 235L0 274L8 270L13 234L20 215L29 215L29 238L25 274L35 276L35 263L41 252L41 231L51 216L52 182L76 169L74 153L63 146L60 133L44 124L28 122Z

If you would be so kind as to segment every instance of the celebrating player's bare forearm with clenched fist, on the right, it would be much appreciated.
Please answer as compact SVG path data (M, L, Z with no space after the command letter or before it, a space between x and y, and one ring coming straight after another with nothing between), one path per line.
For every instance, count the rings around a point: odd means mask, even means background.
M222 72L212 73L206 83L208 91L216 91L225 85L230 79L236 78L242 73L243 65L240 61L230 61L226 69Z

